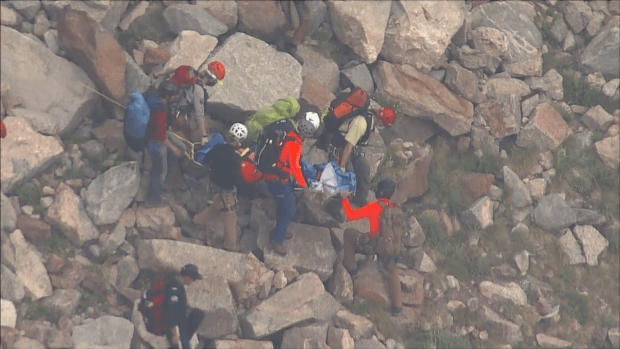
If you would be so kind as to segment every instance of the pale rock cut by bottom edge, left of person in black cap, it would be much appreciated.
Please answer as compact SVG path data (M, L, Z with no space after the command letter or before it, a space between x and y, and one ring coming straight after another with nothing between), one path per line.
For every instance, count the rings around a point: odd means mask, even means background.
M104 315L83 325L73 326L75 348L113 347L129 349L134 327L127 319Z

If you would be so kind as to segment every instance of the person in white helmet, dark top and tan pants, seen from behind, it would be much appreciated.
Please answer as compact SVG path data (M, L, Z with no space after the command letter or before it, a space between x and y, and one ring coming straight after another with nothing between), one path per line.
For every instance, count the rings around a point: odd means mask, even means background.
M220 214L224 224L224 248L237 249L237 183L241 182L241 156L237 149L248 136L244 124L236 123L226 135L226 143L217 144L203 160L210 171L210 189L214 204L211 209ZM220 212L224 211L223 214Z

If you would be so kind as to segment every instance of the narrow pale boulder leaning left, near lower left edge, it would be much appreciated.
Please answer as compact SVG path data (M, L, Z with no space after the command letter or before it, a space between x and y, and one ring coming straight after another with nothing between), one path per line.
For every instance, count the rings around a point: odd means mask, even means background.
M37 300L51 296L52 284L37 249L26 242L19 230L11 233L10 240L15 253L15 274L24 284L30 298Z

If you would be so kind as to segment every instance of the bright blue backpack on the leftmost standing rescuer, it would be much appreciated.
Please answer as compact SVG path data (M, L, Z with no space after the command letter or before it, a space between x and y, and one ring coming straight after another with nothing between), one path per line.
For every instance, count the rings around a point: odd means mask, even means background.
M151 109L146 96L133 90L129 95L129 105L125 111L123 136L125 143L134 151L140 152L146 148L149 139L146 129L151 120Z

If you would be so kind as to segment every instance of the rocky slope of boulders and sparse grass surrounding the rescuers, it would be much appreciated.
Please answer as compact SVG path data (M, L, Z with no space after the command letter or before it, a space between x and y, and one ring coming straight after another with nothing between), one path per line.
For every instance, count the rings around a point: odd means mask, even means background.
M200 347L619 347L619 4L2 2L2 347L163 348L136 301L186 263L205 276L187 290ZM278 51L300 18L303 64ZM408 214L401 315L375 261L342 266L364 223L333 224L321 195L298 201L286 257L255 195L240 252L220 249L199 170L171 169L170 206L142 207L149 159L116 103L205 59L227 69L220 120L286 96L324 109L351 86L397 110L365 152Z

